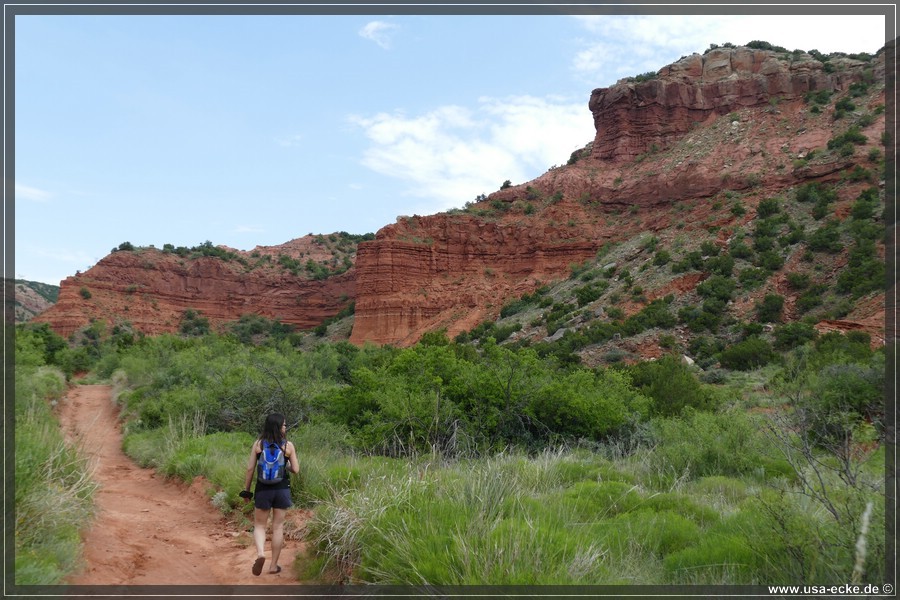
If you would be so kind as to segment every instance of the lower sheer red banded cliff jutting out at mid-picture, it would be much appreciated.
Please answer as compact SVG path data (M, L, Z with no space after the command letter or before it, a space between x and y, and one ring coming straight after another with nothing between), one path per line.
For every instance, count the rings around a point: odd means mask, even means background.
M385 227L359 247L364 287L350 341L407 345L441 328L453 336L496 317L506 299L560 278L602 243L568 226L536 225L435 215Z

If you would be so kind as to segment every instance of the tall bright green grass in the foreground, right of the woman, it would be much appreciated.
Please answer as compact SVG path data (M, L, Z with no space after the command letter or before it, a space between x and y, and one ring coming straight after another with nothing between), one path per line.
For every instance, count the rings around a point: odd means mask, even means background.
M858 532L808 498L779 494L758 474L688 478L673 491L653 474L654 454L637 454L611 462L557 451L372 470L354 459L355 484L335 488L315 511L307 574L409 585L724 585L853 572ZM877 527L883 510L874 513ZM883 569L883 540L867 541L871 576Z

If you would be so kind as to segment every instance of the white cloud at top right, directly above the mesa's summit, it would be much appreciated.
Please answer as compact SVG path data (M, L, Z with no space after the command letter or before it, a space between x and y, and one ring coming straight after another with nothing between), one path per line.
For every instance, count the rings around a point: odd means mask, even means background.
M612 85L702 53L710 44L766 41L788 50L875 53L884 45L878 15L590 15L574 17L589 34L572 70L595 86Z

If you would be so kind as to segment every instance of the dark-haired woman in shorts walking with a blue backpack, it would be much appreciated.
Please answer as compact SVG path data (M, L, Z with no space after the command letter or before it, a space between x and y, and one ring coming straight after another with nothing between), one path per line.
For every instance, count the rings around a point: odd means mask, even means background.
M284 545L284 517L291 507L291 486L288 473L300 472L297 451L294 444L287 441L287 423L284 415L272 413L266 417L259 439L250 448L250 459L247 461L247 477L244 480L244 491L241 497L254 499L253 541L256 543L256 562L253 563L253 574L262 573L266 562L266 525L269 512L272 512L272 563L269 573L281 572L278 556ZM250 493L250 484L256 478L256 491Z

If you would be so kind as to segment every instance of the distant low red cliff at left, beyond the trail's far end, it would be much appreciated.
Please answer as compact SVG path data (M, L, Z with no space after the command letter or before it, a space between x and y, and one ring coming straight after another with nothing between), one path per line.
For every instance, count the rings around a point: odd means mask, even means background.
M63 336L94 319L127 321L136 331L159 334L177 331L191 309L213 329L244 314L311 328L338 313L355 293L351 272L313 281L271 264L253 268L235 260L141 249L114 252L66 278L56 304L34 321L49 323Z

